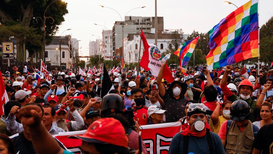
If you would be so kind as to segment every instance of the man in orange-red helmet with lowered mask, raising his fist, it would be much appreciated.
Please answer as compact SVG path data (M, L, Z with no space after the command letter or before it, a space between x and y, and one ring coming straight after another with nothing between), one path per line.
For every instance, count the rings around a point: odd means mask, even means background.
M231 92L231 90L227 87L228 73L231 72L232 69L233 69L232 66L229 66L229 65L226 66L226 71L225 71L222 81L221 81L221 88L224 93L224 96L226 96L226 98L231 102L234 102L236 100L246 101L247 104L251 107L251 113L249 115L249 120L251 122L254 122L255 117L258 114L256 113L257 112L256 100L252 100L250 98L250 94L253 92L252 83L248 79L243 80L238 86L238 92L240 93L240 95L238 97L236 95L234 95Z

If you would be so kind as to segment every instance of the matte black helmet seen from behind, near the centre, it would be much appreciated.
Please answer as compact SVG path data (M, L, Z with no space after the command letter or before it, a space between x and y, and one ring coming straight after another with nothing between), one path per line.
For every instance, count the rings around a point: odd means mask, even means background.
M107 94L102 98L101 116L105 117L109 114L119 114L123 112L123 100L117 94Z

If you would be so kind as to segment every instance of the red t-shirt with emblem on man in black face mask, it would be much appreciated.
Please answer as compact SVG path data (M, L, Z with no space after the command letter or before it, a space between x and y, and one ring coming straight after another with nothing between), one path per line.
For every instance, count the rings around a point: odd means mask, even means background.
M137 117L137 119L134 117L134 119L136 121L138 121L138 124L140 126L142 125L146 125L147 121L148 121L148 108L146 106L143 106L141 108L136 108L137 111L134 112L135 117Z

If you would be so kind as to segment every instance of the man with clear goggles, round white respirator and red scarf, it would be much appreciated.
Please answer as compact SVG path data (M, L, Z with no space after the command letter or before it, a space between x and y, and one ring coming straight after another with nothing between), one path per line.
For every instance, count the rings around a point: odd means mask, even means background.
M189 125L174 135L169 153L225 153L220 137L205 128L207 118L204 104L189 104L186 119Z

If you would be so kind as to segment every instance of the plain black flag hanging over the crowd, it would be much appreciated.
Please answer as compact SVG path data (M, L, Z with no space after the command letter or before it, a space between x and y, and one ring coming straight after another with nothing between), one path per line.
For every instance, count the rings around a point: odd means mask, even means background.
M110 90L115 89L110 79L110 76L107 72L107 69L104 65L104 62L103 62L103 79L101 84L102 84L102 88L100 90L101 92L100 98L103 98L106 94L109 94Z

